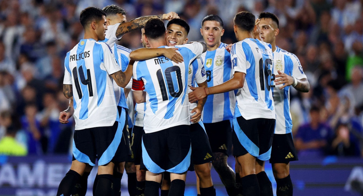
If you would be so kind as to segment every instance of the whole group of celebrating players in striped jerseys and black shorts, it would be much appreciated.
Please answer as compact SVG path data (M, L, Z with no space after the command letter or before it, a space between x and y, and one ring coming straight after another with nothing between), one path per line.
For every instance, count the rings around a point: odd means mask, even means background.
M159 189L183 196L188 170L196 172L198 195L216 196L212 165L229 196L272 196L267 160L277 196L292 196L289 162L297 153L289 87L310 86L298 58L276 46L278 18L263 12L255 19L237 13L238 42L227 45L216 15L201 22L204 43L188 42L189 25L175 12L127 22L117 5L84 9L84 38L64 63L70 103L59 119L68 123L73 115L76 127L72 166L57 196L85 195L96 159L97 196L120 195L124 170L130 196ZM144 48L116 44L136 29ZM232 146L235 172L227 164Z

